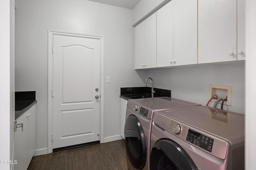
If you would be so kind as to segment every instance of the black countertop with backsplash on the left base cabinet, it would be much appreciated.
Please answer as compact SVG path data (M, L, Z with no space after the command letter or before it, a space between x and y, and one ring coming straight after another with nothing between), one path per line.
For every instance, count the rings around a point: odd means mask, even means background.
M15 92L15 120L36 104L36 91Z

